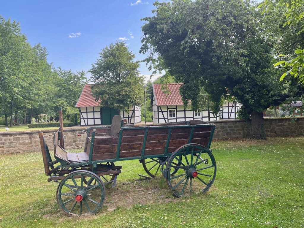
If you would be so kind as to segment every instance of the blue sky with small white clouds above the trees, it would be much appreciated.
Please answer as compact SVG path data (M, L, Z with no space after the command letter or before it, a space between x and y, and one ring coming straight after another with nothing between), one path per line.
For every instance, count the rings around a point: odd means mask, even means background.
M141 46L141 18L151 16L154 0L2 1L0 14L20 22L29 43L41 43L55 67L88 71L103 47L125 40L136 60ZM150 75L145 64L140 71ZM89 73L86 73L90 77Z

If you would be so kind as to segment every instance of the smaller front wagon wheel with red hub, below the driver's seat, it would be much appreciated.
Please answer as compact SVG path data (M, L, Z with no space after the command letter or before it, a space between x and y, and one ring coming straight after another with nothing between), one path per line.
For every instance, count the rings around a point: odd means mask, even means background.
M93 215L105 200L105 185L91 171L74 171L62 179L56 198L59 207L68 216Z

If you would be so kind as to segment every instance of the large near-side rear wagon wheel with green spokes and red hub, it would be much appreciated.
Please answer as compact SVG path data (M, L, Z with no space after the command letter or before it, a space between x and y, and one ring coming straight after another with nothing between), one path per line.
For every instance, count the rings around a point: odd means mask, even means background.
M178 162L180 164L175 165ZM213 154L208 148L196 143L185 144L175 150L166 168L168 187L178 197L206 192L216 176ZM177 172L169 175L171 169L177 169Z

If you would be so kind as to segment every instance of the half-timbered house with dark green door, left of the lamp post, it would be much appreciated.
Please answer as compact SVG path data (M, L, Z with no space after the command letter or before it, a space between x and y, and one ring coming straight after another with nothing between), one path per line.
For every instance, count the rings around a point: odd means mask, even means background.
M100 107L100 101L96 101L92 95L90 84L86 84L78 99L76 108L79 108L80 125L110 125L113 116L122 115L126 123L141 122L140 107L133 105L129 112L115 110L109 107Z

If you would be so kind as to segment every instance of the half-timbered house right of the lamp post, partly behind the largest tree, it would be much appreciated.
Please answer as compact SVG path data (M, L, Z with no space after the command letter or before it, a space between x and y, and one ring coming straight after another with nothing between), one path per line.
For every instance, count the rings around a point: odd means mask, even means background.
M153 123L170 123L180 122L192 119L202 121L212 121L219 119L236 119L236 112L240 108L237 102L225 102L221 108L221 112L213 115L210 109L207 110L191 110L184 108L179 88L182 84L168 84L169 93L161 90L160 84L152 85L151 106L153 109Z

